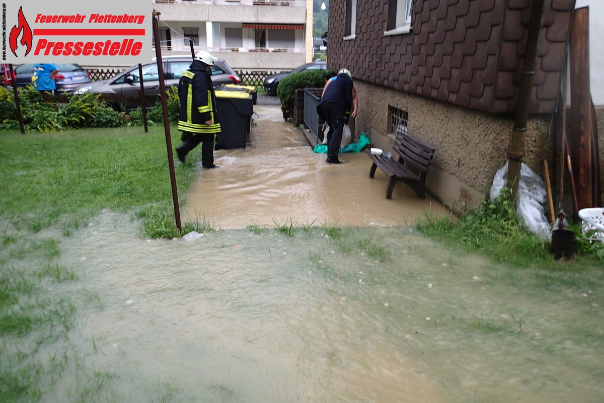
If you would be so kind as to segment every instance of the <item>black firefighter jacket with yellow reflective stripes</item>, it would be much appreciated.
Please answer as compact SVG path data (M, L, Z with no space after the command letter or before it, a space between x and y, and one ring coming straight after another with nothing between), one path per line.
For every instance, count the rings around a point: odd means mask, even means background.
M204 63L194 60L191 67L182 73L178 83L178 130L191 133L220 133L220 122L216 111L216 95L210 74L205 72ZM211 121L211 125L206 125Z

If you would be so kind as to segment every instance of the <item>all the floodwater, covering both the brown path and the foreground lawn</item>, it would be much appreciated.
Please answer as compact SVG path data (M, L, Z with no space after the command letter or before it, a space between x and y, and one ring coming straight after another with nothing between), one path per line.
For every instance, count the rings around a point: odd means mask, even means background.
M47 281L76 319L37 350L41 402L603 401L601 268L508 268L426 240L395 224L429 199L397 185L385 200L366 156L328 166L257 110L252 147L217 153L187 197L219 230L146 240L105 211L34 236L58 239L76 277ZM288 236L288 219L316 222Z

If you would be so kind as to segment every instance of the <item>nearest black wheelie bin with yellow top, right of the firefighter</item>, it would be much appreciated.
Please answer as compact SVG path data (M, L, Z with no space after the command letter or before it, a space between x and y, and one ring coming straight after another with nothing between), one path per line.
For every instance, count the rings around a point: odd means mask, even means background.
M248 92L217 90L216 109L221 130L216 150L245 148L254 113L252 96Z

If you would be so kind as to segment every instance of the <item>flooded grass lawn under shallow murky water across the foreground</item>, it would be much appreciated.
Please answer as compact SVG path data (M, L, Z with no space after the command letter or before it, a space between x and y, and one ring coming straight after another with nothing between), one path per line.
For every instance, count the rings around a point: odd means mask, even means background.
M5 235L6 315L31 313L1 335L5 401L602 402L601 267L510 268L398 226L139 229Z

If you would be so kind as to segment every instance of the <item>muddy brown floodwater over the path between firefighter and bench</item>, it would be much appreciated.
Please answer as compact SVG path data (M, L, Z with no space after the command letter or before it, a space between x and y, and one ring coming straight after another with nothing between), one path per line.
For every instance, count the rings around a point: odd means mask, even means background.
M200 167L186 195L184 217L204 217L223 229L254 224L271 226L335 224L384 226L416 222L423 212L437 217L443 206L429 196L417 198L399 183L387 200L388 177L377 170L369 178L365 153L344 153L345 163L330 165L313 153L306 138L283 121L279 106L254 106L257 124L246 150L216 152L217 170Z

